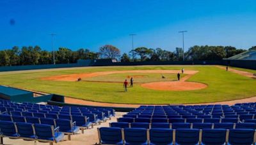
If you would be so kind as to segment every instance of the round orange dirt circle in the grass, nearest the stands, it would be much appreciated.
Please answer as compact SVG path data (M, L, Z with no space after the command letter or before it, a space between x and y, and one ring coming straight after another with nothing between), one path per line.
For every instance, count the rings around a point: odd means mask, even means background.
M200 90L206 88L204 83L191 81L159 81L152 83L141 84L143 88L152 90L168 90L168 91L185 91L185 90Z

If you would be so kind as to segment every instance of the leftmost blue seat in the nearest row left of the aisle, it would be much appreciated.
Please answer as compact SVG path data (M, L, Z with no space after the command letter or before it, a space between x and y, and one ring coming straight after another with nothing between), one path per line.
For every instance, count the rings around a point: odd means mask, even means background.
M0 121L0 134L3 137L18 138L15 123L12 121Z

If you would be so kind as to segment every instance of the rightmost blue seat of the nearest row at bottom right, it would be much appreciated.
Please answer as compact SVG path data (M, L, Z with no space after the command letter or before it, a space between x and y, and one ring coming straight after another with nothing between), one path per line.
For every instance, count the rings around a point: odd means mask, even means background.
M230 129L228 144L252 144L254 132L255 131L253 129Z

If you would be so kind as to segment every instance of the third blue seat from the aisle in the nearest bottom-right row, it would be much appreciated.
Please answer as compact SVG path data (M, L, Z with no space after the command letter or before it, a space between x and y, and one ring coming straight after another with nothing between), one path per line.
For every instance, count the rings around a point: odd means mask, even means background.
M151 145L172 144L172 129L152 128L149 130L149 132Z

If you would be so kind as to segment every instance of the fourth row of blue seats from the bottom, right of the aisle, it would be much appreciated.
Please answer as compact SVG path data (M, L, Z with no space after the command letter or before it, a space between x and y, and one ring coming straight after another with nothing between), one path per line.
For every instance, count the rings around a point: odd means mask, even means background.
M123 115L125 118L238 118L240 120L246 120L246 119L256 119L255 114L228 114L224 116L220 115L205 115L205 114L200 114L200 115L177 115L177 114L170 114L170 115L161 115L161 114L155 114L155 115L148 115L148 114L124 114Z

